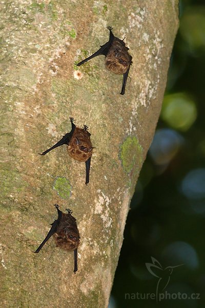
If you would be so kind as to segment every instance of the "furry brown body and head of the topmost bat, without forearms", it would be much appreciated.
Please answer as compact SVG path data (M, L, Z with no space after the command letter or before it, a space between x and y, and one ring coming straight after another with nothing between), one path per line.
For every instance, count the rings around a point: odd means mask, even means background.
M106 67L113 73L121 75L127 72L132 63L132 57L128 53L128 48L120 40L114 41L107 56Z

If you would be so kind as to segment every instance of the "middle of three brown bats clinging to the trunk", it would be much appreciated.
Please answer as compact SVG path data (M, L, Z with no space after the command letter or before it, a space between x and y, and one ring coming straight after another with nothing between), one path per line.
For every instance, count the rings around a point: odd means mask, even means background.
M51 150L55 149L58 146L67 145L68 154L70 157L74 158L79 162L86 163L86 185L89 183L90 175L90 162L92 156L92 150L94 147L90 141L90 132L88 131L88 126L84 125L84 128L76 127L73 118L70 118L71 121L71 131L67 132L65 136L60 139L56 144L51 148L39 153L39 155L46 155Z

